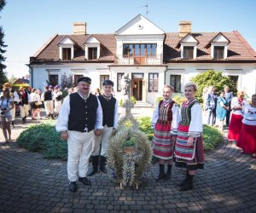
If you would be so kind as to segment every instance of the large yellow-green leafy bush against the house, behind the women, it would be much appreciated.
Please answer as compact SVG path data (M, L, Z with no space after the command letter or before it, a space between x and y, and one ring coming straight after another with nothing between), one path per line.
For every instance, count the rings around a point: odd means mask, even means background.
M191 78L191 81L196 83L197 92L195 97L202 102L202 91L205 87L210 85L216 88L217 94L220 90L224 89L224 85L229 85L230 91L233 91L236 94L236 85L229 77L226 77L222 74L221 71L207 70L201 74L196 75L194 78Z

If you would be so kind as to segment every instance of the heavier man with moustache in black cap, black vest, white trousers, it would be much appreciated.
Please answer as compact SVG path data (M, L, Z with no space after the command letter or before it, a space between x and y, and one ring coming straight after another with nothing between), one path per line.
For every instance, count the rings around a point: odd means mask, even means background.
M101 135L103 129L101 103L96 95L90 94L90 83L88 77L79 78L79 90L64 99L56 124L61 139L67 140L67 177L73 193L78 189L78 179L84 185L91 185L86 174L93 135Z

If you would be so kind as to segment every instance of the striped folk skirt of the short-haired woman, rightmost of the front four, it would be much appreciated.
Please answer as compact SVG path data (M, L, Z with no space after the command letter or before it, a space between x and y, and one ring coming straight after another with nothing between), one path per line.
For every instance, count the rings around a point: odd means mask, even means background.
M203 169L204 146L201 137L194 139L192 146L187 146L189 139L189 126L179 125L177 129L177 140L175 144L175 165L187 170Z

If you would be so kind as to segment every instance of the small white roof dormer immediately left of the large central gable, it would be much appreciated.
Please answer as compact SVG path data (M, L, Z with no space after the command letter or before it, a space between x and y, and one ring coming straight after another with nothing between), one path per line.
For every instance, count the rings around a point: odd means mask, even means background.
M89 37L85 43L85 59L87 60L97 60L100 58L101 43L96 39L96 37Z

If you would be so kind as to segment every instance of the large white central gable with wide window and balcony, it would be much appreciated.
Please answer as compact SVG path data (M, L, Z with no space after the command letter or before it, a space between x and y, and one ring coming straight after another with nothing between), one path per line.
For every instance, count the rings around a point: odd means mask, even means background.
M138 14L115 32L116 62L119 64L161 64L165 32Z

